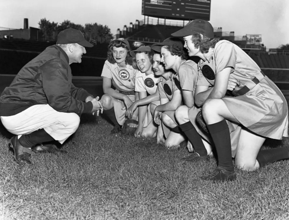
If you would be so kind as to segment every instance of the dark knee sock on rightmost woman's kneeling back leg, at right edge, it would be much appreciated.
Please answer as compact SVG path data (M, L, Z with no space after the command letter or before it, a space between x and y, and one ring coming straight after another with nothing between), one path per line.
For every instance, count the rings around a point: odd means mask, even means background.
M257 155L257 161L260 167L267 165L268 163L272 163L275 161L280 161L289 158L289 151L287 148L272 148L266 150L260 150Z

